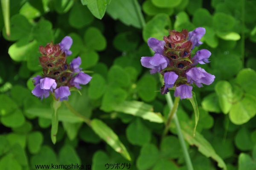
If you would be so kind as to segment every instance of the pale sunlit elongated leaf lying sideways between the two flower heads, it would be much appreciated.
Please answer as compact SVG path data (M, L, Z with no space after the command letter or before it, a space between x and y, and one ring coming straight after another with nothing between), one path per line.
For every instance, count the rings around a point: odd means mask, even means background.
M140 101L124 101L113 107L113 109L116 112L138 116L148 121L163 123L163 118L160 113L153 112L153 107L151 105Z

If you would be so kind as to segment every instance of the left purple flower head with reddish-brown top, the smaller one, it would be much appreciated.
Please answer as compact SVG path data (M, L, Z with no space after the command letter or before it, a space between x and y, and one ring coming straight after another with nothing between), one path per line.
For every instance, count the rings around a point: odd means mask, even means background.
M64 37L59 44L48 43L40 46L42 56L39 58L43 68L43 75L32 78L35 88L32 94L43 99L50 93L55 94L56 100L67 100L70 88L81 89L80 84L87 84L91 77L82 72L79 66L81 58L75 58L70 65L67 64L67 56L71 55L71 37Z

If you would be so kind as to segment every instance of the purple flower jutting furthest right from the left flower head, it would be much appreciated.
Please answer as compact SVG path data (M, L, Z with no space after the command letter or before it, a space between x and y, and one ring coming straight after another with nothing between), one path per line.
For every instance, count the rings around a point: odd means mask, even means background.
M92 79L90 75L85 74L84 72L79 72L75 77L70 80L70 84L75 86L77 89L81 89L80 84L87 84Z

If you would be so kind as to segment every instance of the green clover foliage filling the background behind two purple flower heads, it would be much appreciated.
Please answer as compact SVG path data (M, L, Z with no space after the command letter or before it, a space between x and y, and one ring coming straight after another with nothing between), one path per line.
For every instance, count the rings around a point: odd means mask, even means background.
M7 8L1 0L0 8L0 170L76 163L92 164L93 170L107 163L186 170L175 125L160 138L169 109L159 77L140 58L153 54L149 37L162 40L168 29L199 26L206 34L195 50L212 53L211 63L201 67L216 78L193 88L200 112L195 137L190 102L182 100L177 111L192 164L195 170L256 169L256 0L9 1ZM52 144L52 99L33 96L30 78L41 73L38 47L66 35L73 39L68 62L80 56L81 67L93 72L82 95L72 92L69 103L93 119L93 128L62 104ZM102 140L108 135L116 138L113 144Z

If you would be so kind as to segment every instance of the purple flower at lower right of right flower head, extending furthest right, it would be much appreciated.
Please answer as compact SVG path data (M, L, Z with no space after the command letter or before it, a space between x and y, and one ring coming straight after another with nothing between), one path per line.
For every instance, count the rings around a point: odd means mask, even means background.
M206 85L212 84L215 78L214 75L209 74L201 67L194 67L192 69L189 69L189 71L186 72L186 76L187 76L187 81L190 84L193 84L195 82L195 84L198 87L202 87L203 86L202 84L206 84Z

